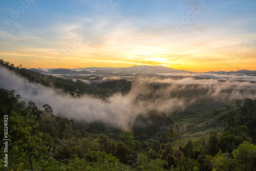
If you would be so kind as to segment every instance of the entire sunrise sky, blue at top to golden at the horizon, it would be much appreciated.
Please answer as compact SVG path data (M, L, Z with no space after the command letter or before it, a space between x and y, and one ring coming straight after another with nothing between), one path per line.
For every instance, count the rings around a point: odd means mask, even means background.
M0 58L24 68L256 70L256 1L0 0Z

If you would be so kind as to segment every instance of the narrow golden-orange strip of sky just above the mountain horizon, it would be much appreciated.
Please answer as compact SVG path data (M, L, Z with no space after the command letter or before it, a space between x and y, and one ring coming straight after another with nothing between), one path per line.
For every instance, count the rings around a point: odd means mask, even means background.
M15 65L22 64L25 68L75 68L75 67L132 67L135 65L161 65L169 68L207 72L207 71L237 71L240 69L256 70L256 59L245 56L245 59L234 59L230 56L212 54L175 53L172 57L156 53L111 53L70 56L54 54L33 54L24 52L1 52L0 58ZM124 57L122 57L124 56ZM241 67L238 67L241 66Z

